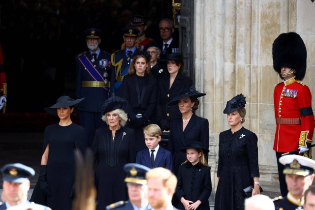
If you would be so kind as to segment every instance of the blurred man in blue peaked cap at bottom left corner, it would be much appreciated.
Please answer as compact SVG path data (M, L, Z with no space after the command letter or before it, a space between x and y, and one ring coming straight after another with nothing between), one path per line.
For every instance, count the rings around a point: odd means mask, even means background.
M3 180L2 196L5 202L0 205L0 210L31 204L27 199L30 190L29 177L35 175L34 169L21 163L10 163L1 168L1 174ZM49 210L50 208L44 207L44 209Z

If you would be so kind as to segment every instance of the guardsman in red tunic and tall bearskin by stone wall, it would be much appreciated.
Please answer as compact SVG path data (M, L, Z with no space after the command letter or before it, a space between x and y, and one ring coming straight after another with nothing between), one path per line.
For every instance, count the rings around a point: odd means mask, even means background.
M281 194L286 196L284 167L279 158L284 152L309 150L314 132L312 94L301 82L306 72L307 52L299 34L280 34L273 43L272 56L274 69L284 80L274 90L277 128L273 149L277 155Z

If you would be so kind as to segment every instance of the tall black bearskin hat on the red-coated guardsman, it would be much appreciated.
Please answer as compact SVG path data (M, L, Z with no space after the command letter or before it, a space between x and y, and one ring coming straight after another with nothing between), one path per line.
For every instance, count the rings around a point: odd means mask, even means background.
M297 80L303 80L306 72L307 52L301 36L295 32L280 34L272 45L274 69L281 76L281 68L292 68L296 71Z

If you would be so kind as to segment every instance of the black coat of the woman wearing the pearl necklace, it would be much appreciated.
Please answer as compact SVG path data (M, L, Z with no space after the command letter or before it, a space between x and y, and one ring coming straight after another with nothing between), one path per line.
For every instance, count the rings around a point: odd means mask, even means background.
M192 114L184 132L182 117L171 121L167 149L173 154L174 174L177 175L178 167L187 159L186 153L179 151L191 141L199 141L205 148L209 148L209 122ZM208 160L208 153L205 154Z

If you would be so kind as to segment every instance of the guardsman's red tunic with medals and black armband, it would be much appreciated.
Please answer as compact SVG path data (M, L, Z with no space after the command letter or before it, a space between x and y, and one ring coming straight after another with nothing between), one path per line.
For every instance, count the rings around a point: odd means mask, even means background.
M291 78L275 87L274 105L276 122L277 118L281 120L300 118L301 123L279 124L277 122L273 149L277 152L289 152L297 150L299 146L309 147L314 132L310 89L302 82Z

